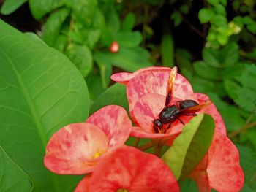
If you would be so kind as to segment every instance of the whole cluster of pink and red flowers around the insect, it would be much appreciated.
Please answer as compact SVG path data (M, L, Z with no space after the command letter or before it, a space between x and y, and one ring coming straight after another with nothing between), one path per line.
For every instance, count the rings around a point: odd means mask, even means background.
M156 132L154 120L166 103L171 69L149 67L134 73L113 74L112 80L127 85L129 119L124 108L110 105L94 112L84 123L73 123L53 134L48 142L45 166L57 174L86 174L75 191L179 191L170 168L155 155L125 145L129 137L151 139L152 145L172 146L193 115L173 120L165 132ZM194 93L181 74L176 74L170 104L192 100L203 104L208 96ZM244 173L236 146L227 138L225 124L214 104L199 112L214 119L215 132L200 164L189 178L199 191L239 191ZM156 146L154 146L156 147Z

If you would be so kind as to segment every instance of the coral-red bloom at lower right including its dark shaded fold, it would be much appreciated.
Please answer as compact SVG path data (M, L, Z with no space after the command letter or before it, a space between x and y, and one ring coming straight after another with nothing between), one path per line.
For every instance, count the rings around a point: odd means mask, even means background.
M197 165L192 178L199 191L240 191L244 185L244 172L239 164L236 146L225 135L215 131L208 153Z

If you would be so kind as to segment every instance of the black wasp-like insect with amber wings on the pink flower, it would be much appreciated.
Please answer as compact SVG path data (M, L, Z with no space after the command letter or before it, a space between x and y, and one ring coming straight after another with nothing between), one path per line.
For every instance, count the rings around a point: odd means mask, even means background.
M187 99L183 101L177 101L176 104L170 104L170 100L173 96L173 85L177 73L177 67L174 66L170 72L170 77L167 83L167 94L165 99L165 107L158 115L158 119L153 121L153 128L155 133L165 134L171 123L179 120L183 125L184 122L181 120L181 116L196 116L196 112L202 110L211 104L211 101L205 101L203 104L198 104L197 101ZM167 125L166 126L164 125Z

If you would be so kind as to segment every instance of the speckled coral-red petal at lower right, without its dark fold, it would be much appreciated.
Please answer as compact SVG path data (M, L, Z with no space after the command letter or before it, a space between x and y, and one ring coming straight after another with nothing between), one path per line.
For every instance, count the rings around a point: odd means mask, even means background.
M211 188L217 191L240 191L244 185L244 172L239 164L239 153L233 142L215 131L208 150L207 173Z

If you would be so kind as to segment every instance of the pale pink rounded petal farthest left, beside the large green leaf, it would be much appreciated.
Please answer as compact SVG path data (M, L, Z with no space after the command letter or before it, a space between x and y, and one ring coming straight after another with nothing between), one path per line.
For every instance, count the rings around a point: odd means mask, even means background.
M53 134L46 147L45 166L57 174L85 174L108 150L105 133L91 123L73 123Z

